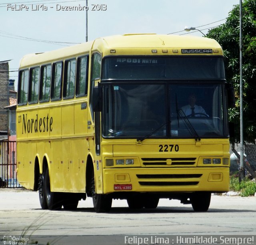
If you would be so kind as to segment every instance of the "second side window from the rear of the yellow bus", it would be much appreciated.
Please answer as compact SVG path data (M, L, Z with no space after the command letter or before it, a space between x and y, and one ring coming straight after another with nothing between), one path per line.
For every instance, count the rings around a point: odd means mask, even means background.
M38 89L40 81L40 67L30 69L28 102L38 103Z

